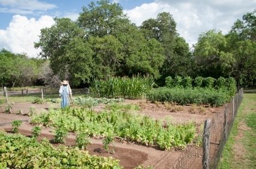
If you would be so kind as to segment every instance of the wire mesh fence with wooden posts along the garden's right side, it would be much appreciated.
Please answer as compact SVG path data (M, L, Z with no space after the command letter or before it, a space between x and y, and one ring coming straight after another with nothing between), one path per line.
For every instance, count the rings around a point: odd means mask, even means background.
M201 137L202 146L187 146L178 159L167 168L218 168L242 99L243 89L240 89L231 101L225 104L223 113L217 113L211 119L206 120Z

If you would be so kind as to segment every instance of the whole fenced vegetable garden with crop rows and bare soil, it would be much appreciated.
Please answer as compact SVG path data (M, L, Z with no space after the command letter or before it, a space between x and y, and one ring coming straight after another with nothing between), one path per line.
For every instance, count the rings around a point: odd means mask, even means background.
M236 82L177 76L155 88L150 78L115 77L90 90L66 108L60 98L1 96L0 166L168 168L187 145L201 146L204 120L224 112Z

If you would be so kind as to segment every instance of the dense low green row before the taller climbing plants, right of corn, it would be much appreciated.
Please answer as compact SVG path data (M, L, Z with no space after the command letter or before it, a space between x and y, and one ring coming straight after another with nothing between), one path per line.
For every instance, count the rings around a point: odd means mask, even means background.
M224 89L159 87L147 93L147 100L151 102L176 102L181 105L210 104L219 107L230 101L231 96L233 95Z

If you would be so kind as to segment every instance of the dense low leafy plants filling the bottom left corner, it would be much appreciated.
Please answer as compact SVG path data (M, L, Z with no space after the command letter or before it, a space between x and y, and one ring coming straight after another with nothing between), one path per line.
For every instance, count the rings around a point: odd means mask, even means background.
M0 131L0 168L123 168L112 157L92 156L78 147L54 147L45 138Z

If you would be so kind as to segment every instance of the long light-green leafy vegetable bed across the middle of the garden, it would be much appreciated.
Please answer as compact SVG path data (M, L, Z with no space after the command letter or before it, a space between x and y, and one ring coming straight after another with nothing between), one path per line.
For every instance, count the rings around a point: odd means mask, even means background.
M97 113L87 108L50 109L49 113L31 116L31 123L43 123L56 129L61 126L67 131L85 132L90 137L118 136L145 145L156 144L165 150L170 150L171 147L184 148L191 143L196 133L193 122L172 125L150 116L121 110Z

